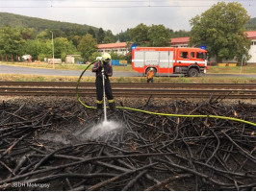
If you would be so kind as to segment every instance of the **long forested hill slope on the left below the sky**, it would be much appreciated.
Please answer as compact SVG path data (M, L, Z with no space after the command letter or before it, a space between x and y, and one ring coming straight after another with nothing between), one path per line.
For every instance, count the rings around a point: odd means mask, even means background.
M0 12L0 27L2 26L34 28L37 32L41 32L45 29L51 29L54 31L61 31L67 36L83 36L88 33L90 28L95 32L98 31L97 28L89 25L53 21L8 12Z

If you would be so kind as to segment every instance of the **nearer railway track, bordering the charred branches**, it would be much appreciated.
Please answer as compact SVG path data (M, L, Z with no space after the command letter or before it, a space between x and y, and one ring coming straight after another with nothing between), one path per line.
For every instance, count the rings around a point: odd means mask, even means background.
M80 96L95 96L95 87L81 87ZM166 88L113 88L115 97L192 97L212 96L230 99L256 99L256 89L166 89ZM9 96L75 96L74 87L0 87L0 95Z

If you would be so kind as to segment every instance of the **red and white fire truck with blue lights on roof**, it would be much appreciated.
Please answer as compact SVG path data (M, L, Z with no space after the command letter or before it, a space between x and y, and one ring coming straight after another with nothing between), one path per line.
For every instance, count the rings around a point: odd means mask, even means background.
M136 47L132 50L132 68L146 74L152 67L154 74L184 74L196 77L206 73L207 51L189 47Z

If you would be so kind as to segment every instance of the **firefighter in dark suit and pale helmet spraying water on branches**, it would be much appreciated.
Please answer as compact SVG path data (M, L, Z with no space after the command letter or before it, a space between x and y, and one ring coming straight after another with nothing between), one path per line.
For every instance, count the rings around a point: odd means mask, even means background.
M111 64L111 55L105 53L102 56L102 60L98 60L94 63L92 67L92 72L96 75L95 85L97 92L97 109L98 114L101 115L103 112L102 104L103 104L103 83L102 83L102 69L104 70L105 75L105 93L109 102L109 107L112 111L115 111L115 101L112 94L112 87L110 84L109 77L113 75L113 68Z

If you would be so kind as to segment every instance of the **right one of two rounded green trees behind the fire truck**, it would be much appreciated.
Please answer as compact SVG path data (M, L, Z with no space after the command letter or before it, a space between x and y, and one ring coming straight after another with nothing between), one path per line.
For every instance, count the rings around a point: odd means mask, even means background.
M150 46L164 47L170 43L170 34L164 25L152 25L147 36Z

